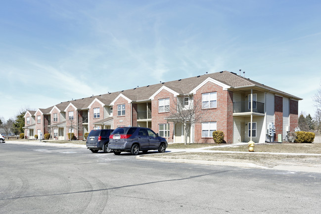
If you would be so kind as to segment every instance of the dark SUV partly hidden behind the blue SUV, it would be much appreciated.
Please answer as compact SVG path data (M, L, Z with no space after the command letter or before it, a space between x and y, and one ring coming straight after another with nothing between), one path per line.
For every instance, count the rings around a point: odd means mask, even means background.
M86 146L93 153L103 150L105 153L110 153L108 148L109 135L114 129L93 129L88 134Z

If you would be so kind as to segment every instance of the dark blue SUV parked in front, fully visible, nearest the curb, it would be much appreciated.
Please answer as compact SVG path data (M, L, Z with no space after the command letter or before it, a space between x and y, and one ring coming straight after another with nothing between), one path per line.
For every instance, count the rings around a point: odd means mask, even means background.
M138 155L139 151L146 153L148 150L165 152L167 146L166 139L158 136L150 128L120 127L116 128L109 136L109 149L115 155L119 155L121 152Z

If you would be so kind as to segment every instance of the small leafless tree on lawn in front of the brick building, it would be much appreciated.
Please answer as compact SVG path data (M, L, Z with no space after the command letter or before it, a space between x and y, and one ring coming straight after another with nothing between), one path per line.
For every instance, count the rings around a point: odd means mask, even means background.
M183 99L181 99L183 98ZM185 98L188 98L188 104L185 105ZM191 127L201 121L202 114L200 114L201 102L195 101L191 99L191 95L184 95L180 97L176 97L174 99L174 104L170 108L170 112L172 113L167 119L174 122L180 123L184 128L184 144L187 144L187 137L190 135ZM174 107L175 106L175 107Z

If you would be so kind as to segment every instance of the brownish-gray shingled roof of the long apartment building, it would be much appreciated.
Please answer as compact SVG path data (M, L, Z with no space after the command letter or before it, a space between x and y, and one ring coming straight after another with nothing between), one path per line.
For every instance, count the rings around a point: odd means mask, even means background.
M265 86L263 84L252 81L250 79L241 77L235 73L231 73L228 71L222 71L222 72L217 72L217 73L200 75L197 77L190 77L190 78L185 78L185 79L181 79L181 80L170 81L170 82L166 82L166 83L159 83L159 84L150 85L150 86L137 87L137 88L127 89L127 90L122 90L122 91L115 91L112 93L101 94L101 95L97 95L97 96L91 96L91 97L86 97L86 98L81 98L81 99L76 99L76 100L70 100L70 101L66 101L66 102L61 102L61 103L57 104L56 107L59 110L64 111L64 109L69 105L69 103L72 103L78 109L87 109L88 106L92 103L92 101L95 98L97 98L99 101L101 101L105 105L110 105L110 103L120 93L122 93L123 95L125 95L126 97L128 97L129 99L131 99L133 101L148 100L149 97L152 96L162 86L167 86L168 88L170 88L180 94L188 94L196 86L200 85L204 80L206 80L209 77L214 80L217 80L221 83L224 83L224 84L230 86L231 88L257 86L262 89L272 90L277 93L283 94L285 96L294 97L296 99L301 100L301 98L299 98L299 97L293 96L291 94L285 93L283 91L277 90L277 89L269 87L269 86ZM45 109L44 111L49 113L52 108L53 108L53 106ZM50 110L48 111L48 109L50 109Z

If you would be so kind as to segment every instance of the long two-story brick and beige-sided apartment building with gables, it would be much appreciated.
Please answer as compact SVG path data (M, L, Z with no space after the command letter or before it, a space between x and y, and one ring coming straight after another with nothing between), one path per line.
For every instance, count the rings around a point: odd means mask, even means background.
M168 142L213 143L222 130L227 143L281 141L298 126L299 97L222 71L61 102L25 115L25 135L51 133L82 140L92 129L138 126L152 128ZM175 120L194 108L199 120L188 133ZM188 123L188 121L186 121ZM271 131L271 128L275 132ZM39 135L39 134L38 134Z

